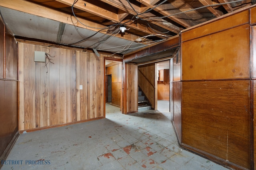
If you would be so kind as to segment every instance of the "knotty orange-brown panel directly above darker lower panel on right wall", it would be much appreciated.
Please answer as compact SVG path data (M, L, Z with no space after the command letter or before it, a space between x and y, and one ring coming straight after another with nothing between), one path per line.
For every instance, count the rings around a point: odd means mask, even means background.
M248 24L182 43L182 80L249 77Z

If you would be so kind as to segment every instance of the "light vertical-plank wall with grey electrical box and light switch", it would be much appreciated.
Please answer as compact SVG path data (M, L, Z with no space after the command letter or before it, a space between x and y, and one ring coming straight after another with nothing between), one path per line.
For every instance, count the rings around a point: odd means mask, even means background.
M18 49L19 130L104 117L102 56L28 43ZM52 63L34 62L34 51L45 51Z

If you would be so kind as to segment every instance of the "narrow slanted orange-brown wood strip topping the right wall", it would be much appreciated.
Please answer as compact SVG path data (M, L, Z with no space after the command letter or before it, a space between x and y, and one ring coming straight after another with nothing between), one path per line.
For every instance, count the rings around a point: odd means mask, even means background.
M182 42L188 41L191 39L209 35L225 29L230 29L232 27L236 27L238 25L242 25L248 22L249 22L249 12L248 10L246 10L238 14L234 14L232 16L222 18L221 20L208 23L206 25L200 25L200 27L185 30L182 33L181 41Z

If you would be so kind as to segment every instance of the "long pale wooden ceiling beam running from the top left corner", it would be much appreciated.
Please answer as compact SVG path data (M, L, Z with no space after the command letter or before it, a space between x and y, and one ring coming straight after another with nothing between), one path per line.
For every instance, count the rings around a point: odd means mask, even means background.
M83 25L82 23L78 22L76 20L76 18L74 18L74 17L71 18L70 14L66 14L63 12L59 12L59 11L44 7L44 6L40 6L38 4L34 4L34 3L28 2L26 0L11 0L11 1L10 0L1 0L0 6L10 8L13 10L17 10L17 11L21 11L21 12L25 12L25 13L32 14L35 16L40 16L43 18L48 18L51 20L63 22L66 24L75 25L77 27L89 29L92 31L99 31L99 29L97 29L97 28L106 27L105 25L98 24L98 23L77 17L80 22L86 23L86 25ZM38 11L40 11L40 12L38 12ZM112 35L112 34L108 34L108 35ZM116 35L116 37L130 40L130 41L135 41L136 39L140 38L139 36L133 35L133 34L128 34L126 36Z

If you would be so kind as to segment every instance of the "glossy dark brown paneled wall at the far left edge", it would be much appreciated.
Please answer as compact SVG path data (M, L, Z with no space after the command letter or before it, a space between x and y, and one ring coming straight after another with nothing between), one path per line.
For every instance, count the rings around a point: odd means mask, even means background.
M17 44L1 18L0 120L0 160L5 160L18 137L18 59Z

